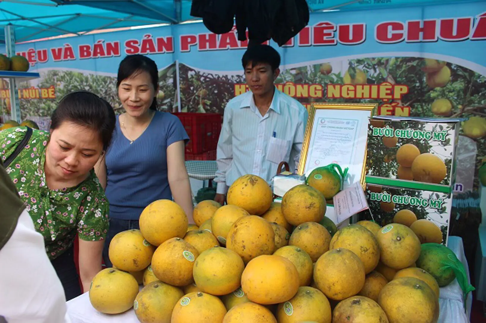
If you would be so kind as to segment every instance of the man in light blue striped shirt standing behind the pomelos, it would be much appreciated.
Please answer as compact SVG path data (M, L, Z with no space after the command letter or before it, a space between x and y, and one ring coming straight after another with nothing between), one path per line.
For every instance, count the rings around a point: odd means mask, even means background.
M270 182L282 161L295 171L307 124L307 109L274 85L280 73L280 55L274 48L250 47L242 63L250 91L226 105L214 179L214 200L220 204L240 176L253 174Z

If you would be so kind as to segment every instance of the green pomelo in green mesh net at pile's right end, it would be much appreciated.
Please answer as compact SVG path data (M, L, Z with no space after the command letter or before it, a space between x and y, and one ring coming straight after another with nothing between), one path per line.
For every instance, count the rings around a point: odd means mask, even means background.
M454 278L463 291L466 300L474 287L468 283L468 276L464 266L451 249L439 243L423 243L420 256L417 259L417 267L434 276L440 287L451 284Z

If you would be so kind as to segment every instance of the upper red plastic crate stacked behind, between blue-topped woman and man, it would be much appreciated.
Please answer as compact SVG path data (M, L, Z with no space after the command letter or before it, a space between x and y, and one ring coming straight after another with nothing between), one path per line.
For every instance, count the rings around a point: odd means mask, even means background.
M189 135L186 153L201 154L216 150L222 123L220 114L176 112L174 115L181 120Z

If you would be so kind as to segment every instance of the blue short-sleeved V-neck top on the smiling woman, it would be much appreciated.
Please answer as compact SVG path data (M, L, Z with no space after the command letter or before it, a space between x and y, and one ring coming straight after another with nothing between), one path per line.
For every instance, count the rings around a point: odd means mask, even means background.
M156 112L147 129L132 144L121 132L119 118L106 153L106 197L110 218L138 220L143 209L160 199L172 199L167 179L167 147L189 140L176 116Z

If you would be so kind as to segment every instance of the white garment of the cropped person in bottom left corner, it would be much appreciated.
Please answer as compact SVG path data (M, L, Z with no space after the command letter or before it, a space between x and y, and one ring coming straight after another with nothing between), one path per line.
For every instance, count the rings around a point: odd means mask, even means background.
M0 316L8 323L70 323L44 238L24 210L0 250Z

